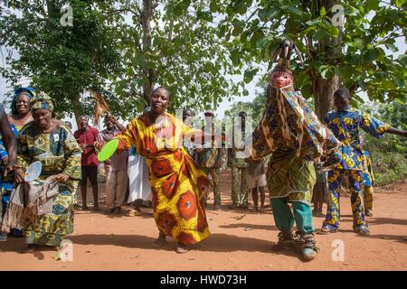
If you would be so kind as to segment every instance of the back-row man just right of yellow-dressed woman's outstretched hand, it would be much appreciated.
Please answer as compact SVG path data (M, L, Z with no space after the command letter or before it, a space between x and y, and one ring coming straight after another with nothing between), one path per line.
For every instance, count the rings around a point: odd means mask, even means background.
M229 209L248 209L248 196L249 189L247 186L248 178L248 166L249 163L246 159L240 155L242 149L238 145L244 144L246 138L246 117L247 114L244 111L239 113L241 122L234 124L232 132L232 148L228 150L228 157L232 163L232 205ZM238 142L236 133L241 132L241 142Z

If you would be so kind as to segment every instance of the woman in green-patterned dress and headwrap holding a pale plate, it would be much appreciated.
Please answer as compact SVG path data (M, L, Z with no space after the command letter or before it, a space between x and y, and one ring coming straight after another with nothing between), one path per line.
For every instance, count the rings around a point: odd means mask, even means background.
M73 205L80 181L80 146L71 131L52 118L55 102L41 93L30 101L33 122L22 128L17 137L15 181L24 182L24 169L30 163L43 164L40 180L58 182L59 193L52 212L35 216L25 228L28 252L38 245L61 247L62 239L73 231Z

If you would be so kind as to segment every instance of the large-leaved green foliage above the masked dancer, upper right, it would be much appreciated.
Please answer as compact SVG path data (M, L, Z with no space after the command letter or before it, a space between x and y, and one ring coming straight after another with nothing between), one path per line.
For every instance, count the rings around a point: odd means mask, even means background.
M222 22L222 34L234 42L233 63L237 66L247 63L246 71L254 70L260 63L269 64L271 69L271 53L282 38L290 37L306 55L304 69L291 61L295 78L300 79L296 80L296 86L306 98L315 97L316 78L331 79L337 75L356 94L364 91L370 99L382 102L384 99L405 101L407 55L399 51L395 41L406 34L407 3L333 1L345 8L343 27L336 27L336 11L327 3L231 1ZM241 16L237 9L241 5L250 13ZM392 53L386 55L384 48ZM397 51L402 54L394 57L393 52ZM245 80L249 81L250 75Z

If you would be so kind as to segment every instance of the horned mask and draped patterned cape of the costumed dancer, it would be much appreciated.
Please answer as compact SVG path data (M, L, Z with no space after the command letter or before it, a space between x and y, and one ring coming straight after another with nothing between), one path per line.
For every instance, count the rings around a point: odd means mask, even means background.
M289 70L289 58L292 50L298 51L291 40L285 40L274 53L274 58L279 56L279 61L272 70L269 79L269 110L276 123L270 132L277 135L271 145L284 144L296 150L296 155L305 157L310 161L319 162L322 156L334 152L332 149L338 145L335 137L321 124L317 115L310 109L299 91L294 89L293 72ZM299 52L298 52L298 55ZM302 58L300 57L302 61ZM285 61L285 62L284 62ZM272 109L271 109L272 108ZM269 126L269 124L264 124ZM277 144L279 143L279 144ZM339 162L337 155L330 163ZM327 163L328 164L328 163Z

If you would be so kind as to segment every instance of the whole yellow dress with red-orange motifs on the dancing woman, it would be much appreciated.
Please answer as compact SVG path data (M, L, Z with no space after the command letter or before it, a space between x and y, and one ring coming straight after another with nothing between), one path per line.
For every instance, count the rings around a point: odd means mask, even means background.
M202 131L165 114L153 124L147 114L134 118L116 137L118 150L136 145L147 158L157 228L180 243L194 245L210 232L204 210L204 190L209 180L183 147L183 137Z

